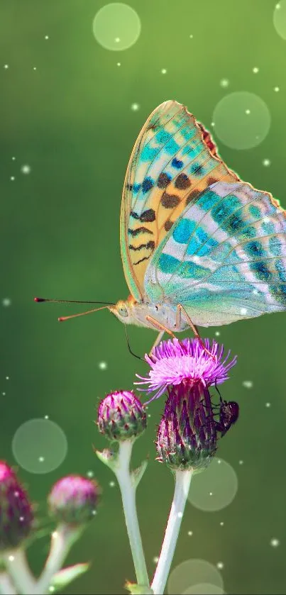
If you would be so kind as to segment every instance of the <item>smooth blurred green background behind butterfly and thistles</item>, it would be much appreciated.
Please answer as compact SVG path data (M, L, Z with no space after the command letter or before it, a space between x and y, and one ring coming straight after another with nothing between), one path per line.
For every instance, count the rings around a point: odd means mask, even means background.
M57 316L80 308L37 305L33 296L106 301L127 296L119 251L121 187L145 118L166 99L186 104L208 128L226 94L258 94L271 113L268 136L250 150L222 143L219 150L243 179L270 190L286 207L286 41L273 26L275 3L128 4L142 28L125 51L106 50L94 38L92 22L102 1L0 4L0 457L15 464L11 442L17 428L48 415L64 430L68 452L53 472L19 469L33 500L45 511L50 486L64 474L93 470L99 480L99 513L68 558L70 563L92 560L92 569L68 587L70 594L123 593L124 580L134 579L119 489L109 485L114 477L92 452L92 444L106 446L93 420L99 399L112 389L130 389L145 366L129 355L123 326L109 312L59 325ZM221 87L224 78L227 88ZM131 109L134 103L137 111ZM263 167L265 159L269 167ZM29 174L21 172L23 165L31 167ZM215 330L204 329L202 335L212 338ZM219 330L219 340L238 354L223 396L239 402L241 418L219 446L219 455L238 475L238 494L215 513L187 505L173 567L192 558L221 561L227 593L285 594L286 316ZM130 338L133 350L143 354L155 335L134 327ZM107 367L101 369L100 362ZM243 386L245 381L253 387ZM148 430L136 443L134 460L150 457L138 489L150 573L173 487L170 472L155 462L153 440L162 410L162 399L150 406ZM273 538L278 547L271 547ZM31 548L35 572L47 547L43 539Z

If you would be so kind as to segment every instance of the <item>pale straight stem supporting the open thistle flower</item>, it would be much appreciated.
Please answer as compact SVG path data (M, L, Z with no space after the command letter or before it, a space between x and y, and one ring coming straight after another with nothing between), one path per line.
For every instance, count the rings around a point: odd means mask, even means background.
M165 530L165 538L158 565L154 574L151 589L154 595L164 593L167 577L170 572L172 558L174 556L177 538L180 532L182 516L185 510L187 495L189 494L189 485L192 479L192 470L179 471L175 473L175 492Z

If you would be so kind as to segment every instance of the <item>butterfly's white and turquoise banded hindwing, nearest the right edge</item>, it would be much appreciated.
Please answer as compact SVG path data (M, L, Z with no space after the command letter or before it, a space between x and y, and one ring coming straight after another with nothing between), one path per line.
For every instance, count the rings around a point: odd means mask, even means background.
M285 211L251 184L211 184L155 251L145 292L182 304L199 326L285 310Z

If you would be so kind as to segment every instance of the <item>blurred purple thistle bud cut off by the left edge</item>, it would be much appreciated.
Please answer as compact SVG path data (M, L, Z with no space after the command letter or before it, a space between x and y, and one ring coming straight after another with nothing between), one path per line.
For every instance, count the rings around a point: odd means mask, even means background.
M15 472L0 461L0 552L21 545L33 527L33 508Z

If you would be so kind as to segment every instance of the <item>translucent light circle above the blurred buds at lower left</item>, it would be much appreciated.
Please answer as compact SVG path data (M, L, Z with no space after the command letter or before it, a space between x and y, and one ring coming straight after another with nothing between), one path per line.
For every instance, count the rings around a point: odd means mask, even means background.
M30 419L13 435L12 452L18 465L30 473L50 473L67 455L67 438L49 419Z

